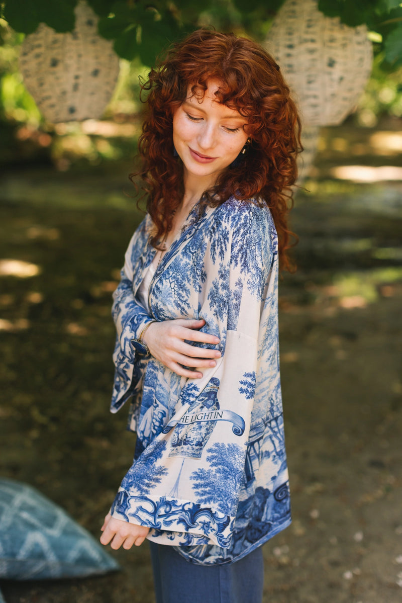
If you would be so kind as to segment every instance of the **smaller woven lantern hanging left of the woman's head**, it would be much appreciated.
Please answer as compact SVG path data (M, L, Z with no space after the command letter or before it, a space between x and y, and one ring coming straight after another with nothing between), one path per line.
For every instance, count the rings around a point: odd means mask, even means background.
M75 8L72 33L41 23L22 43L19 67L25 86L48 121L101 117L119 75L112 42L98 34L98 17L86 2Z

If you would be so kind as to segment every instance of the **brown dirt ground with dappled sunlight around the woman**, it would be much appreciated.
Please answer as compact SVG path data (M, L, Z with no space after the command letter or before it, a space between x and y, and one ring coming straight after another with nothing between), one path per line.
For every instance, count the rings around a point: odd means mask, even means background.
M402 185L331 172L401 165L374 134L325 131L293 211L298 271L280 284L293 523L263 548L264 603L402 601ZM0 257L39 267L0 277L0 473L94 535L134 449L125 411L108 414L110 292L138 221L128 171L10 172L0 206ZM2 581L5 601L154 602L147 546L111 554L121 572Z

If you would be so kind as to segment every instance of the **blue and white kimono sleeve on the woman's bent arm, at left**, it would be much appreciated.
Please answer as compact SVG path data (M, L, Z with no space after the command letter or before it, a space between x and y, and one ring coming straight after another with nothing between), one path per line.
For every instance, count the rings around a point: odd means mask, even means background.
M116 343L113 352L115 364L115 380L111 402L111 411L116 412L125 400L133 394L142 374L143 358L133 346L146 324L152 318L145 308L134 297L134 263L140 270L138 256L143 244L142 228L134 233L125 253L124 267L121 270L121 280L113 293L111 314L116 326Z

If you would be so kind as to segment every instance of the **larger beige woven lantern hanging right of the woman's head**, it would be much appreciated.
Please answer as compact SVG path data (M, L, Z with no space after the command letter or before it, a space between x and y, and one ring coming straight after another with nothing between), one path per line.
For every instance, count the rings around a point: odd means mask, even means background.
M365 25L326 17L316 0L286 0L266 39L294 93L303 125L338 125L356 106L371 73Z

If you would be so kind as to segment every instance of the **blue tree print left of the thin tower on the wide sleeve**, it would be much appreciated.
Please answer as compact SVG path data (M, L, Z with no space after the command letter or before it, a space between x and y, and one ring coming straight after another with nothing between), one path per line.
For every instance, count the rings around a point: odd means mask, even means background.
M160 484L162 477L168 473L165 466L157 465L166 449L165 441L156 441L134 461L126 473L121 486L125 490L135 490L139 496L149 494L151 488Z

